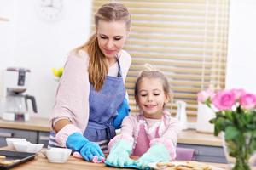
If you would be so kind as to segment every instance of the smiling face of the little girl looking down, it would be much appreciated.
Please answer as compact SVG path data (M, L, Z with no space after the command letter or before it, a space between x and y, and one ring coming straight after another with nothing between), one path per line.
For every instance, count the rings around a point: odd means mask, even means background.
M143 116L160 119L164 105L169 100L160 79L144 77L138 84L137 92L137 105L143 111Z

